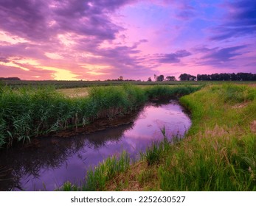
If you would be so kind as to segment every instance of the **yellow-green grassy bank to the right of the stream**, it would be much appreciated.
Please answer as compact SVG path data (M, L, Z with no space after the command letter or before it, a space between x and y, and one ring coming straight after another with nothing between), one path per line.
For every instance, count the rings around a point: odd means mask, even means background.
M186 138L167 141L162 129L163 141L138 162L106 160L86 177L94 187L60 190L256 191L256 88L208 85L180 102L192 113Z

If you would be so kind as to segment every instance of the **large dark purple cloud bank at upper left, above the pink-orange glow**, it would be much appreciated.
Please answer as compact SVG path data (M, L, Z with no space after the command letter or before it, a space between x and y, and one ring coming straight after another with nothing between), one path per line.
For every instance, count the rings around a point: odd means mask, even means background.
M52 40L58 33L74 32L102 40L114 39L122 29L108 14L131 0L8 0L0 4L1 29L29 40Z

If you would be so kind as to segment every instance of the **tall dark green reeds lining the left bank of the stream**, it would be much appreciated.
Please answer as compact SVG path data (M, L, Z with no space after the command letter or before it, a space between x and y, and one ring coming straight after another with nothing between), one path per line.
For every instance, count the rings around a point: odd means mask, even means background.
M134 85L92 87L89 96L68 98L52 87L23 87L12 90L0 85L0 148L16 141L80 127L97 118L130 113L154 96L181 96L197 87Z

